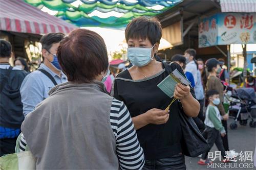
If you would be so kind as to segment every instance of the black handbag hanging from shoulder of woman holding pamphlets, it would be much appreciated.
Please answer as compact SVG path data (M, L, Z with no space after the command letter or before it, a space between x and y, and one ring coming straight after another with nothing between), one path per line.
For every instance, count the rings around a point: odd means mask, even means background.
M173 70L170 64L164 62L165 70L170 74ZM209 145L202 136L192 117L187 116L182 109L179 109L180 125L182 130L182 152L189 157L197 157L208 151Z

